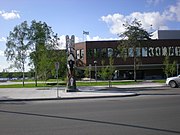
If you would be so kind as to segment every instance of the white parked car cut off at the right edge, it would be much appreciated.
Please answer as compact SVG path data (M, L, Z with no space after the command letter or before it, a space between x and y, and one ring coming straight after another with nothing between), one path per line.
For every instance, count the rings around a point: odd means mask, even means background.
M171 88L180 87L180 75L167 78L166 85L169 85Z

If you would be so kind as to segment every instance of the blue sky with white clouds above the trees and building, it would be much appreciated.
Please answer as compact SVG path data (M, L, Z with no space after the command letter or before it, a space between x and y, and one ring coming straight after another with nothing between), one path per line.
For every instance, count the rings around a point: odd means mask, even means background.
M83 40L118 39L122 24L137 18L147 31L180 29L180 0L4 0L0 1L0 71L9 63L3 55L6 37L16 25L46 22L65 42L65 35ZM152 27L151 27L152 25Z

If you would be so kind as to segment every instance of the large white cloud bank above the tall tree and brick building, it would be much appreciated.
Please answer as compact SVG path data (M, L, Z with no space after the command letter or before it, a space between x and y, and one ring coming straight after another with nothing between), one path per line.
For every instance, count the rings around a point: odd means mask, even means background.
M153 1L153 0L151 0ZM155 2L155 1L153 1ZM157 3L158 1L156 1ZM104 21L112 34L120 34L124 32L123 24L138 19L142 23L142 27L147 31L154 31L157 29L169 29L166 25L168 21L180 22L180 0L176 5L171 5L169 8L160 12L133 12L127 16L122 14L109 14L102 16L101 20Z

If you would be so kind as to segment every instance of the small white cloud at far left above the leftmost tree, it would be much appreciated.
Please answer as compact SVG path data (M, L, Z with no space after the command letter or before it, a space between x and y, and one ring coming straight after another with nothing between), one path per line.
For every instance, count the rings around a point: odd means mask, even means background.
M11 12L0 11L0 16L3 17L5 20L20 18L20 15L16 10L12 10Z

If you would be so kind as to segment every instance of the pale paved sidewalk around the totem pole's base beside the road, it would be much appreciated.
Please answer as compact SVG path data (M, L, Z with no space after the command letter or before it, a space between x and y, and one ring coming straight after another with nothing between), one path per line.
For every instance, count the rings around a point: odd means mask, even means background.
M136 85L119 85L108 88L78 87L80 92L65 92L65 87L54 88L1 88L0 101L33 101L33 100L62 100L62 99L85 99L104 97L125 97L136 96L135 92L117 91L117 88L138 88L138 87L161 87L163 84L141 83Z

